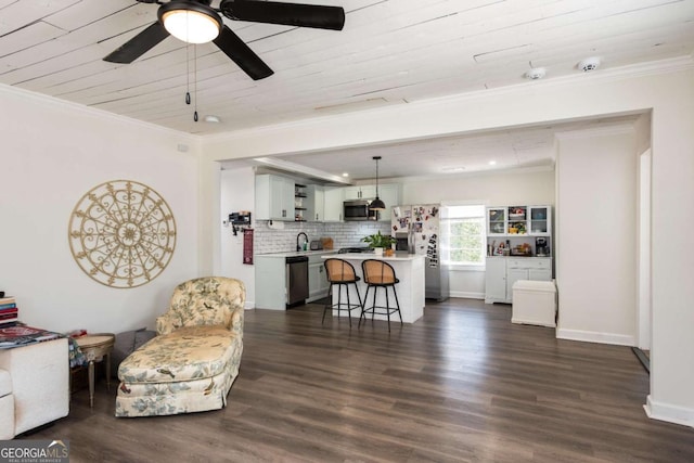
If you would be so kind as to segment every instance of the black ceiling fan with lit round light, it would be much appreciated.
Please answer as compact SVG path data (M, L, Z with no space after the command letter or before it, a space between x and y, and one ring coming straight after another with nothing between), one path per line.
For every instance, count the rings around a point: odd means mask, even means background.
M252 79L259 80L273 74L272 69L254 53L227 25L218 13L233 21L282 24L342 30L345 10L303 3L283 3L258 0L221 0L219 8L210 7L211 0L137 0L156 3L158 21L118 47L104 57L111 63L132 63L162 40L172 35L189 43L209 41L239 65Z

